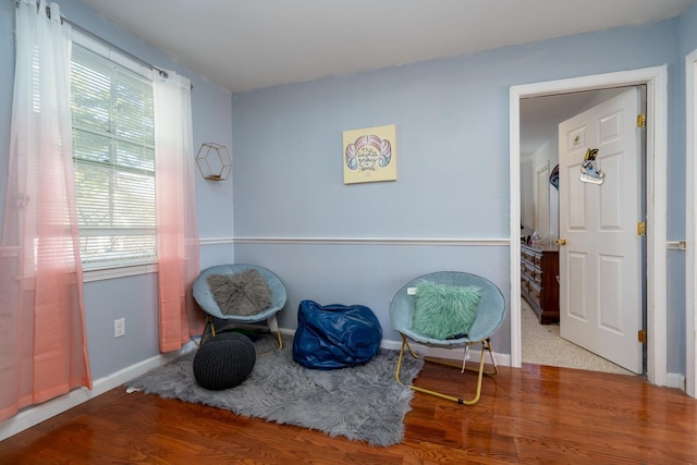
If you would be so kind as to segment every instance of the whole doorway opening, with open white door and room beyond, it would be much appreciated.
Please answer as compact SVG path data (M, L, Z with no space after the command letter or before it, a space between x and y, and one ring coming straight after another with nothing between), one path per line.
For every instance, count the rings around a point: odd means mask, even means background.
M644 372L637 334L645 319L645 241L636 234L645 218L644 130L636 127L644 101L643 86L521 100L521 219L545 254L541 265L524 257L521 268L524 363ZM579 179L588 147L600 149L604 180ZM555 244L559 237L564 245ZM529 267L543 279L530 279Z

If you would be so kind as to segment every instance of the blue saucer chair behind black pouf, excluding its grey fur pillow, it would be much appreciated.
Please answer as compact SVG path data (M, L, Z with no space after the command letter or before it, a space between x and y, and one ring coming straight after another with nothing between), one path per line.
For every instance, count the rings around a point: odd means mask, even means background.
M216 299L216 295L215 295L216 290L211 289L209 278L211 279L222 278L222 279L234 280L236 278L249 276L250 272L258 273L258 274L255 273L255 277L258 278L260 276L264 280L261 284L266 284L265 287L266 290L268 290L268 293L270 295L268 295L268 298L265 301L265 304L261 305L258 308L258 311L255 311L253 315L246 315L246 314L234 315L234 314L231 314L230 311L223 311L223 308L221 308L222 303L219 303ZM246 287L244 285L237 286L237 289L248 289L248 287L249 287L248 285ZM206 336L206 330L208 329L208 327L210 327L211 335L213 336L216 335L216 327L213 325L213 318L218 318L220 320L224 320L230 323L237 323L237 325L249 325L249 323L256 323L256 322L266 320L269 327L269 330L277 333L277 336L279 340L279 348L283 346L283 342L281 340L281 332L279 331L279 325L277 320L277 314L285 306L285 301L286 301L285 285L273 272L257 265L246 265L246 264L218 265L215 267L206 268L200 272L198 278L196 278L196 280L194 281L193 291L194 291L194 299L207 315L206 327L204 328L204 334L201 335L200 344L204 343L204 338ZM240 296L237 295L237 297ZM246 301L248 304L248 299Z

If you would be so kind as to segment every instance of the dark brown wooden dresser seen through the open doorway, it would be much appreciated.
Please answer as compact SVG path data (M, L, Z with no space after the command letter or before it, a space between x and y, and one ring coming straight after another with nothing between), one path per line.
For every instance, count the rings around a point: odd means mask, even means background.
M541 325L559 321L559 247L521 244L521 295Z

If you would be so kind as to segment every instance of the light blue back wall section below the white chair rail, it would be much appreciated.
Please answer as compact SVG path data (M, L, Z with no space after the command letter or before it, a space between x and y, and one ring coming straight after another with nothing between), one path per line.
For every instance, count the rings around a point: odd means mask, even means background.
M282 328L295 328L297 306L309 298L328 304L370 307L382 327L383 339L395 341L389 318L390 301L408 280L430 271L476 272L509 289L508 247L445 245L322 245L245 244L235 246L241 262L261 264L273 270L288 290L288 305L279 315ZM494 339L497 352L509 353L506 321ZM506 346L509 344L509 346Z

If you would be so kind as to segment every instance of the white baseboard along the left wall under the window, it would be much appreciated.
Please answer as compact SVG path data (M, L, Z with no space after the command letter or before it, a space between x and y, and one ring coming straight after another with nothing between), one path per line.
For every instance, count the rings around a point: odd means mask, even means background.
M80 405L83 402L87 402L90 399L96 397L97 395L103 394L105 392L113 388L118 388L123 383L129 382L130 380L151 370L152 368L162 366L173 358L176 358L180 355L194 350L195 347L195 342L188 342L180 351L169 354L156 355L143 362L138 362L137 364L126 367L122 370L119 370L114 374L111 374L105 378L96 380L93 383L91 391L87 388L75 389L65 395L61 395L60 397L56 397L40 405L28 407L16 414L12 418L8 418L7 420L0 423L0 441L8 439L19 432L22 432L35 425L38 425L41 421L46 421L47 419L54 417L56 415L62 414L63 412L69 411L70 408Z

